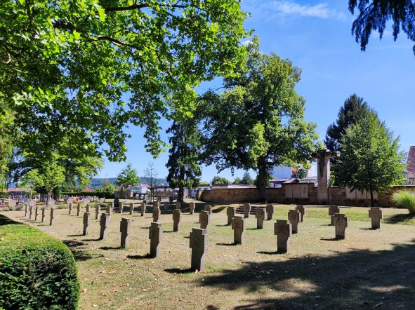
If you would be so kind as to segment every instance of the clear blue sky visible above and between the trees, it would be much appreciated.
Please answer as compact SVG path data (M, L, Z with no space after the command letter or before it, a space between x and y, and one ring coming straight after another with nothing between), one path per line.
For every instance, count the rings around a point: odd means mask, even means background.
M381 41L378 34L372 34L366 52L361 52L350 32L353 15L347 2L246 0L242 8L251 12L245 25L258 34L263 52L274 51L301 67L302 80L296 90L307 100L305 119L317 123L321 140L344 100L357 93L395 135L400 135L401 147L408 151L410 145L415 145L414 42L403 33L394 42L388 27ZM202 86L203 90L206 88ZM168 126L162 122L164 131ZM154 163L159 177L165 177L167 152L152 159L144 151L143 130L128 131L133 137L127 142L126 162L132 163L139 175L148 163ZM116 177L125 166L106 161L98 177ZM210 181L218 175L213 166L202 171L202 180ZM230 170L225 170L219 175L233 180L242 174L237 171L232 177Z

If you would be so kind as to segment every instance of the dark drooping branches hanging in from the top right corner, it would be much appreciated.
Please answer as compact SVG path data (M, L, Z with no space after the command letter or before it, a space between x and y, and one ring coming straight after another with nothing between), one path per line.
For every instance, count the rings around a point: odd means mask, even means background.
M408 39L415 41L415 1L413 0L349 0L349 10L359 12L353 22L352 34L366 50L371 32L378 32L382 39L389 21L392 21L393 39L396 41L400 30ZM413 48L415 53L415 46Z

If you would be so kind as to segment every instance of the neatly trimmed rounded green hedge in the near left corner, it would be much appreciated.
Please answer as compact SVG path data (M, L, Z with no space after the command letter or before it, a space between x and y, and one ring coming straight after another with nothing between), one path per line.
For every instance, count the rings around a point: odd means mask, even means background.
M0 215L0 309L78 309L79 290L64 243Z

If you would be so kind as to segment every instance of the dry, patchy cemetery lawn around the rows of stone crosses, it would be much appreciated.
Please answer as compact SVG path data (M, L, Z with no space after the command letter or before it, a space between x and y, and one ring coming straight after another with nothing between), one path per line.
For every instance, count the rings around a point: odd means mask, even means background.
M80 309L414 309L415 218L407 210L383 208L382 227L372 230L367 208L341 208L349 227L338 241L328 209L307 206L291 252L277 254L275 220L286 220L294 205L275 205L264 229L256 229L251 215L244 245L232 244L225 206L213 209L206 271L197 273L188 269L189 233L199 227L199 213L185 211L179 232L172 231L171 210L162 214L158 259L147 257L151 206L144 217L124 213L132 222L130 246L123 250L119 213L111 215L102 241L94 210L88 236L81 236L82 217L67 209L57 210L53 227L29 223L24 211L1 214L69 246L79 269Z

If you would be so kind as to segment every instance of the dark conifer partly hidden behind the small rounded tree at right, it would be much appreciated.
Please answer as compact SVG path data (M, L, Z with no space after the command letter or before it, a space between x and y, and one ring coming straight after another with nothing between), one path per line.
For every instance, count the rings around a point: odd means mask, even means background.
M327 128L326 140L324 140L327 149L338 151L338 142L341 135L345 133L346 128L358 123L368 112L370 112L369 106L362 97L356 94L348 97L338 112L336 123L332 123Z

